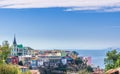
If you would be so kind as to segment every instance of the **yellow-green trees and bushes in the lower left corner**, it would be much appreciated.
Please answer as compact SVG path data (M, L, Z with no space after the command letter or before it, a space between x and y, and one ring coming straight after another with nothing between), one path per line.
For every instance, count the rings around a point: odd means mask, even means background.
M16 65L6 64L5 60L10 54L8 41L4 41L0 46L0 74L31 74L29 71L21 72Z

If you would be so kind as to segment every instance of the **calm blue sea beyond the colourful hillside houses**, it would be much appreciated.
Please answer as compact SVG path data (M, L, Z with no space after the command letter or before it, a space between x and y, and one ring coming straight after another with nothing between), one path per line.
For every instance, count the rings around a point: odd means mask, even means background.
M120 49L116 49L120 52ZM79 53L79 56L90 56L92 58L92 64L94 66L100 66L100 68L105 68L104 58L106 53L111 51L111 49L96 49L96 50L76 50Z

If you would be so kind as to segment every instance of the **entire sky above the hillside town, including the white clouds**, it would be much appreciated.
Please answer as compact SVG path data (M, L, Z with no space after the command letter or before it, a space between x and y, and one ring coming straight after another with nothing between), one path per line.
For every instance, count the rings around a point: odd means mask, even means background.
M120 47L120 0L0 0L0 43L35 49Z

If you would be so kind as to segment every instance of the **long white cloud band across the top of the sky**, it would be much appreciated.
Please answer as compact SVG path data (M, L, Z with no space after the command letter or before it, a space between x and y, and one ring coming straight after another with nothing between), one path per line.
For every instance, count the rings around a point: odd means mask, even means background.
M66 11L102 10L120 11L120 0L0 0L0 8L64 7Z

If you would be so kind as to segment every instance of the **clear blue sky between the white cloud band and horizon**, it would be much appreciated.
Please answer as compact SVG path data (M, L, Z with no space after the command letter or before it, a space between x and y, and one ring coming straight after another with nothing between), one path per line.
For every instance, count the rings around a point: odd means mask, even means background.
M0 43L36 49L120 47L120 12L65 11L65 8L0 9Z

